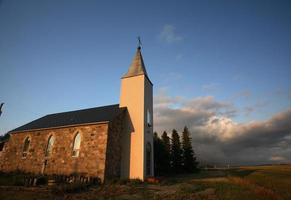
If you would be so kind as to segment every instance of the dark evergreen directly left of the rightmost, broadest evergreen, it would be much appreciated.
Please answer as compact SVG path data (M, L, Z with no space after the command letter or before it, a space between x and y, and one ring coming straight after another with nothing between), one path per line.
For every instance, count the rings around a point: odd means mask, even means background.
M173 129L172 131L172 144L171 144L171 167L172 172L177 174L181 172L182 164L182 149L180 137L178 132Z

